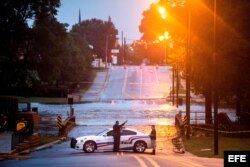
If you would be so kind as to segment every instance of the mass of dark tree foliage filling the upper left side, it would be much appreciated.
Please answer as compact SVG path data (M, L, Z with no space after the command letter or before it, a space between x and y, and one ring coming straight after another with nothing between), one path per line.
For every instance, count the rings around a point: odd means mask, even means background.
M59 6L60 0L0 1L1 92L87 79L90 49L57 21Z

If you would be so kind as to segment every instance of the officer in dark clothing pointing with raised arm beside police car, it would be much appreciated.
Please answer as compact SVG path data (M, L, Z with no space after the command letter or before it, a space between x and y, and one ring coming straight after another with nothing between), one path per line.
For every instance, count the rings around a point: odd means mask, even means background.
M119 121L116 121L113 126L113 138L114 138L114 152L118 152L120 149L120 139L121 139L121 128L127 123L125 121L123 124L119 125Z

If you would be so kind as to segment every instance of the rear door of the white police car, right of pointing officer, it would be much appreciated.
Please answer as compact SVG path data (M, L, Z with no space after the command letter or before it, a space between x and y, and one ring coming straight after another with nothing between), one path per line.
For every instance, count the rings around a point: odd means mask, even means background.
M136 134L137 133L132 130L122 130L120 148L123 150L132 150L134 147L133 140L135 139Z

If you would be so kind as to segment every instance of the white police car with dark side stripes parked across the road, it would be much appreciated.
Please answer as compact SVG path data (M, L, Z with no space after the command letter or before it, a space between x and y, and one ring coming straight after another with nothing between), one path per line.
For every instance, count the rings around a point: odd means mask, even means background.
M87 153L95 150L112 151L114 147L113 129L109 128L95 136L72 138L70 146ZM130 128L122 129L120 150L134 150L134 152L143 153L147 148L152 148L148 134Z

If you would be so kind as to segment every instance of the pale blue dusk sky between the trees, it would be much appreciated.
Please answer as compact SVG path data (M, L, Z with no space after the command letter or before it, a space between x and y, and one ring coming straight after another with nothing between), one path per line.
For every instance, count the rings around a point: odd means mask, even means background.
M142 34L138 26L142 19L142 12L149 9L151 3L158 0L62 0L57 19L62 23L71 26L78 23L79 9L81 20L97 18L112 22L118 29L118 38L121 38L121 31L127 42L139 39Z

